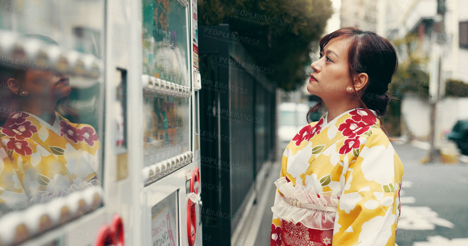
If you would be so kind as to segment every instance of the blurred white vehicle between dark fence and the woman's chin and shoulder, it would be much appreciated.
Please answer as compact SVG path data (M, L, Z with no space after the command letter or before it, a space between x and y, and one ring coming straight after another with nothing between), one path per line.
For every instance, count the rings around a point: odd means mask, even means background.
M299 133L302 127L307 125L307 112L315 105L316 101L306 103L281 103L278 105L279 127L278 138L281 142L289 142ZM319 112L309 115L309 121L318 121L322 117Z

